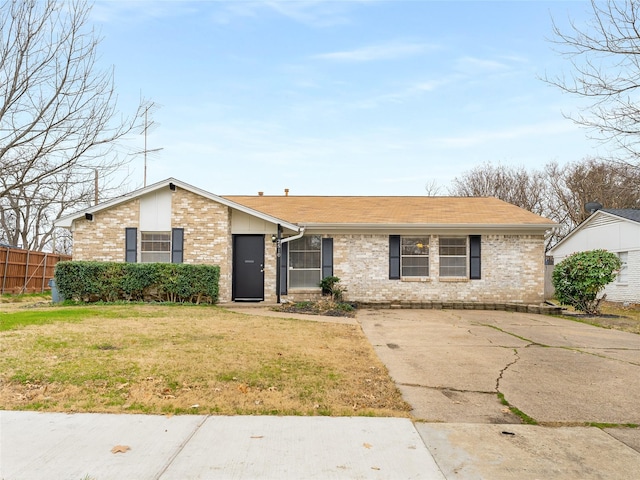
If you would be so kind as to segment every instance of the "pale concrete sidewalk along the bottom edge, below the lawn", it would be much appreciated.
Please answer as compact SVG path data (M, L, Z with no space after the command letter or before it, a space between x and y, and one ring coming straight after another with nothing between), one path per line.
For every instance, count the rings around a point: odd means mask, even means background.
M445 477L406 418L163 417L2 411L0 478Z

